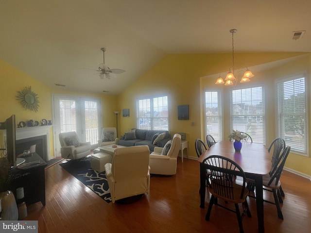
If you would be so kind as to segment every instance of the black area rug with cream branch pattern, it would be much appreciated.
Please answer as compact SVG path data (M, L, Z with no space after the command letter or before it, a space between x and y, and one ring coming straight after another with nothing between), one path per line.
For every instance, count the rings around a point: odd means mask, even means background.
M66 163L59 164L71 175L90 188L94 193L104 199L106 202L111 201L108 181L105 172L98 172L91 168L90 157L70 160Z

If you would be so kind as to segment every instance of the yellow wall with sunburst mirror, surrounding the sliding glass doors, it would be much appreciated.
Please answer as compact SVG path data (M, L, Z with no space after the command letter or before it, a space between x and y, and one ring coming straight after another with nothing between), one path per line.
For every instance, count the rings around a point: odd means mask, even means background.
M116 118L113 113L113 111L115 111L114 107L117 106L116 96L69 92L66 89L51 89L1 59L0 81L0 122L4 122L6 118L13 114L16 115L16 121L26 122L33 119L40 122L41 119L52 120L52 94L63 94L101 98L103 127L116 126ZM32 91L37 94L39 100L37 112L25 110L16 98L17 92L21 91L26 86L31 86ZM50 139L51 157L53 157L53 130L50 131Z

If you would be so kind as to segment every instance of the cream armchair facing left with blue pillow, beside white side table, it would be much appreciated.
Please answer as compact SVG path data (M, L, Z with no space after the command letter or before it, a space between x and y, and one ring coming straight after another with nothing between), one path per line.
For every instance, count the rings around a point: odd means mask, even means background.
M155 147L149 156L151 174L174 175L176 174L177 156L180 149L181 135L175 133L172 145L167 155L161 155L163 148Z

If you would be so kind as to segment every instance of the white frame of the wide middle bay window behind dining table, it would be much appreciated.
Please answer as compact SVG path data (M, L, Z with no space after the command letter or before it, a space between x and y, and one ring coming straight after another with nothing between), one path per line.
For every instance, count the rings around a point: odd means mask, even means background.
M241 116L246 116L246 117L253 117L253 116L256 116L256 121L258 120L258 116L259 116L259 121L260 121L260 116L262 116L262 124L263 124L263 128L262 128L262 137L261 137L261 140L262 141L260 141L260 138L257 138L254 134L252 135L252 133L249 133L247 130L245 130L245 129L241 129L241 128L239 128L239 127L235 127L234 129L233 129L233 124L232 124L232 120L233 120L233 114L232 114L232 104L233 104L233 100L232 100L232 95L233 95L233 91L237 91L237 90L245 90L245 89L252 89L252 88L259 88L259 87L261 87L261 91L262 91L262 104L264 105L263 106L263 111L264 111L264 113L263 113L263 115L262 114L242 114ZM242 131L242 132L244 132L244 133L248 133L248 134L250 134L250 136L252 137L252 139L253 139L253 142L255 142L255 143L260 143L260 144L263 144L263 145L265 145L266 144L266 132L267 132L267 129L266 129L266 127L267 127L267 124L266 124L266 103L265 103L265 101L266 101L266 96L265 96L265 88L264 88L264 85L249 85L249 86L243 86L243 87L239 87L239 88L235 88L235 89L232 89L231 91L230 91L230 106L229 106L229 113L230 113L230 132L232 131L232 130L239 130L239 131ZM238 116L238 115L236 115L236 116ZM256 131L257 132L257 131Z

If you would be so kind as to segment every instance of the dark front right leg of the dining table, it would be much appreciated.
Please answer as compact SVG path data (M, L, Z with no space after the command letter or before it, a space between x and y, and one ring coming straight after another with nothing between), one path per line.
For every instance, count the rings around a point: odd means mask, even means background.
M258 232L264 233L264 222L263 222L263 189L262 189L262 176L254 176L256 186L256 207L258 217Z

